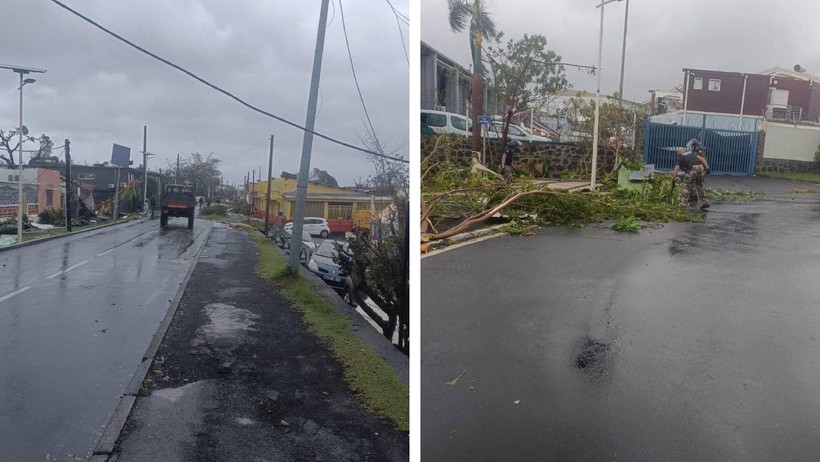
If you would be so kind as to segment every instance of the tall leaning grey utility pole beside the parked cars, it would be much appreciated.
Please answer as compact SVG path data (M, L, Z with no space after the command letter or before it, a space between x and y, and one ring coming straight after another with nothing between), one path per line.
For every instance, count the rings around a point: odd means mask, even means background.
M316 125L316 102L319 94L319 80L322 75L322 52L325 48L325 29L327 24L327 7L329 0L322 0L319 12L319 28L316 33L316 50L313 53L313 71L310 76L310 94L308 96L307 116L302 137L302 160L299 167L299 176L296 181L296 210L293 213L293 231L291 242L302 241L303 222L305 218L305 202L307 200L307 178L310 174L310 153L313 149L313 128ZM294 251L295 250L295 251ZM290 249L290 269L294 273L299 271L300 248Z

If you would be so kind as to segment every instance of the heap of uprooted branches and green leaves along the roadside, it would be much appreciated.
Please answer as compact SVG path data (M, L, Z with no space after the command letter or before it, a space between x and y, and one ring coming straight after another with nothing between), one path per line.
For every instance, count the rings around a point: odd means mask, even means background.
M498 217L512 220L513 233L522 232L526 224L585 226L605 220L636 224L704 219L703 213L680 206L682 184L669 174L656 174L653 181L638 189L619 190L613 172L601 179L594 192L567 192L523 177L506 185L480 168L453 163L446 149L446 140L437 142L433 155L422 163L423 240L445 239ZM754 200L761 196L707 190L710 201ZM634 225L624 226L635 229Z

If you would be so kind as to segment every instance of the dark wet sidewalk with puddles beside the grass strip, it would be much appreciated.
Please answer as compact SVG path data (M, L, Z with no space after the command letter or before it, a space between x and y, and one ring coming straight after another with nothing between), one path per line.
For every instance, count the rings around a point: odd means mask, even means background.
M257 258L214 226L109 460L409 460L408 434L362 410Z

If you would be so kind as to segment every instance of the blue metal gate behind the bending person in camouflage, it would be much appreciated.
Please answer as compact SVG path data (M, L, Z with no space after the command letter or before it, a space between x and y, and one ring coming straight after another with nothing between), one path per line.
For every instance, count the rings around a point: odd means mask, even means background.
M704 118L705 121L705 118ZM644 163L658 170L675 168L675 148L697 138L706 149L709 169L717 175L751 175L755 169L757 132L669 125L647 121Z

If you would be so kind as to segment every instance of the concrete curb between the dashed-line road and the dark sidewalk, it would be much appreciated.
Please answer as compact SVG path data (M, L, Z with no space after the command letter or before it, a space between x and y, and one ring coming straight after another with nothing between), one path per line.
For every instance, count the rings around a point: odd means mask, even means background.
M202 242L203 247L211 237L212 230L213 225L205 231L206 234ZM165 317L159 325L159 329L154 334L151 343L148 345L148 349L142 356L142 362L137 367L133 377L131 377L131 381L128 382L128 386L125 387L125 392L120 397L120 402L117 404L117 409L114 411L114 414L105 426L105 430L103 431L99 441L97 441L97 446L94 448L92 460L106 461L114 452L114 447L120 437L120 434L122 433L123 427L125 426L125 421L128 419L128 416L131 414L131 409L137 401L140 386L151 368L151 363L154 361L154 355L156 355L159 345L162 343L162 339L165 338L165 334L168 332L168 327L170 327L171 321L174 319L177 308L179 308L179 302L182 300L182 296L185 293L185 288L188 286L188 281L191 280L191 275L194 273L194 268L196 268L196 265L199 262L199 256L201 253L202 249L197 252L196 257L193 261L191 261L191 266L188 268L188 272L179 284L179 290L177 290L176 295L171 300L168 311L165 313Z

